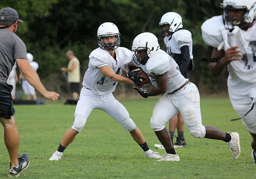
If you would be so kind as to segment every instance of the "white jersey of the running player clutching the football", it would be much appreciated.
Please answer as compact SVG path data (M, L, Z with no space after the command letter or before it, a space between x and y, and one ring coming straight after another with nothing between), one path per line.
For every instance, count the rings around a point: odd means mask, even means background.
M133 54L134 52L132 55ZM153 86L157 86L155 76L163 75L167 72L168 79L166 93L171 93L186 82L186 79L183 75L181 75L179 66L174 61L174 59L161 49L158 49L151 55L146 65L137 65L133 60L132 62L136 67L143 69L143 71L148 74L148 77Z

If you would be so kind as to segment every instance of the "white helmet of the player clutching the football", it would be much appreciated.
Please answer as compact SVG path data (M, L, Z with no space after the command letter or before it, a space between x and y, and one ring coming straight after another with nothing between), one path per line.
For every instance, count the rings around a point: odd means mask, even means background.
M136 64L145 65L148 61L148 58L160 48L158 44L158 39L153 33L144 32L137 37L132 42L132 51L135 52L132 56L132 59ZM138 52L144 51L145 54L137 56ZM148 57L147 57L148 56Z

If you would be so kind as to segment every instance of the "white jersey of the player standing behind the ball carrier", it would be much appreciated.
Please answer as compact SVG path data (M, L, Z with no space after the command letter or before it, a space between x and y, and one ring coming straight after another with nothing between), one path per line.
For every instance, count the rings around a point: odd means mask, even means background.
M172 38L164 37L164 43L166 45L166 52L169 55L181 54L180 48L187 45L189 46L190 59L193 59L192 55L192 35L191 32L185 29L178 30L172 34Z

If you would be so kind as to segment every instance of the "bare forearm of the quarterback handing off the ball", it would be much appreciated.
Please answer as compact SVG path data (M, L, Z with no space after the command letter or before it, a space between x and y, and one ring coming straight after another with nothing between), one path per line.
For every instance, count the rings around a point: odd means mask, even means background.
M130 80L129 78L126 78L122 75L117 75L114 72L114 70L112 68L110 68L109 66L100 67L99 69L100 69L101 73L108 76L108 78L110 78L111 80L113 80L115 82L130 83L133 86L136 86L134 84L134 82L132 80Z

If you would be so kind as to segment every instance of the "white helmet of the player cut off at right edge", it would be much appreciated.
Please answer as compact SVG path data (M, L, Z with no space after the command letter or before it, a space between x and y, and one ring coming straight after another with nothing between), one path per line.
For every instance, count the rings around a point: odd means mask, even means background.
M223 9L223 22L229 30L233 30L234 25L243 28L256 17L256 0L223 0L220 7ZM228 10L234 9L244 10L244 16L242 18L229 18ZM228 27L228 25L231 25L231 27Z

